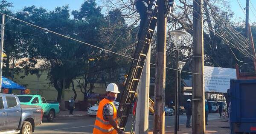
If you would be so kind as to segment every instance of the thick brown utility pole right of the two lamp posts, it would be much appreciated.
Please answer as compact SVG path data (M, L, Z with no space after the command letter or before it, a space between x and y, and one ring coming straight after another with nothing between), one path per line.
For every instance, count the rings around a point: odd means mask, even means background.
M192 134L205 134L203 0L193 1Z

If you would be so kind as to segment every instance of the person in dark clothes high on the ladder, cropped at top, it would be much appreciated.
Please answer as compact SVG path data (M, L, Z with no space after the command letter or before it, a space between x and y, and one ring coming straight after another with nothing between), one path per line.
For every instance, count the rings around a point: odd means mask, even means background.
M140 39L140 34L143 30L143 25L146 19L146 12L148 10L149 0L135 0L135 6L140 14L140 29L138 33L138 39Z

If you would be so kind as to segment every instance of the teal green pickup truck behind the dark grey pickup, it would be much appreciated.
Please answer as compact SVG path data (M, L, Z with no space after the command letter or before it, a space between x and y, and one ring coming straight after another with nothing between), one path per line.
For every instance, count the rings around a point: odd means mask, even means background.
M40 105L44 110L44 117L47 117L47 120L52 122L56 116L60 112L59 103L47 103L44 97L41 95L33 95L33 94L23 94L18 95L20 99L20 104L25 105Z

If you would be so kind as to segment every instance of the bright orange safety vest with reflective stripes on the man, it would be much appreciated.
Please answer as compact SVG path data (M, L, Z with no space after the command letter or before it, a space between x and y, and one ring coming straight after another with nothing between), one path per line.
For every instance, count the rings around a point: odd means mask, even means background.
M116 134L117 131L112 127L109 121L103 119L103 107L106 104L111 104L113 106L114 115L113 118L116 120L116 107L111 100L104 98L99 103L99 108L93 128L93 134Z

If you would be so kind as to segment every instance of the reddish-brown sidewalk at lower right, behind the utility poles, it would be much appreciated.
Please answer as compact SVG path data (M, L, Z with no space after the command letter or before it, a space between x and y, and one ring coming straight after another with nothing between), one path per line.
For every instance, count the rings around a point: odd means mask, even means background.
M225 128L229 126L226 119L209 120L206 125L206 134L229 134L230 129ZM153 134L152 130L148 134ZM174 134L174 126L166 127L165 134ZM186 125L180 125L180 131L177 134L191 134L191 128L186 128Z

